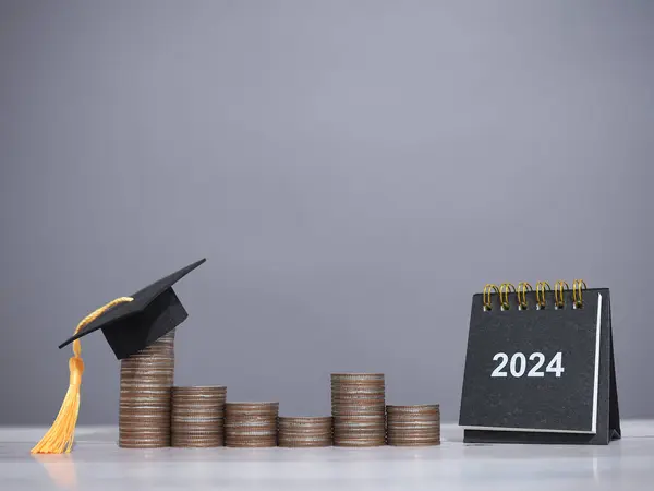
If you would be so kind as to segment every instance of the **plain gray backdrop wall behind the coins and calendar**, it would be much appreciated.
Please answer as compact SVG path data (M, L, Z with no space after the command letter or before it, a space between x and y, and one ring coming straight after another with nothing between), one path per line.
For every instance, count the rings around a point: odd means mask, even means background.
M178 384L456 420L471 296L613 292L654 416L654 2L0 1L0 423L49 424L88 311L196 259ZM83 343L81 423L118 416Z

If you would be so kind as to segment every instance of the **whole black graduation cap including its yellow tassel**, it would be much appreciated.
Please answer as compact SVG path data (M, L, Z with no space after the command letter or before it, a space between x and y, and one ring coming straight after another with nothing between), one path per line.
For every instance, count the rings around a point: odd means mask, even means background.
M84 362L80 357L80 338L101 330L119 360L147 348L189 316L172 286L205 261L206 259L196 261L131 297L119 297L100 307L80 322L73 336L59 345L59 349L71 343L73 345L73 357L69 360L69 390L55 423L32 448L33 454L69 453L72 448L84 371Z

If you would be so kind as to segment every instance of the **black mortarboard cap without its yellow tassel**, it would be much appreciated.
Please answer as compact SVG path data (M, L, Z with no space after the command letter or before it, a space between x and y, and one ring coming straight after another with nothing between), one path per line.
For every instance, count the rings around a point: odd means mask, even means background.
M132 301L107 310L59 345L59 349L98 330L102 330L119 360L148 347L189 316L172 286L205 261L202 259L138 290L132 295Z

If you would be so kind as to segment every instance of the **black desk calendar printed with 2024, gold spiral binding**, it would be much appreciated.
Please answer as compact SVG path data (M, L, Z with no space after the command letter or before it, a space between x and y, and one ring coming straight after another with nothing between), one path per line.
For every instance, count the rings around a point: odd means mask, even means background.
M464 441L619 438L613 351L607 288L584 289L582 302L562 288L474 295L459 418Z

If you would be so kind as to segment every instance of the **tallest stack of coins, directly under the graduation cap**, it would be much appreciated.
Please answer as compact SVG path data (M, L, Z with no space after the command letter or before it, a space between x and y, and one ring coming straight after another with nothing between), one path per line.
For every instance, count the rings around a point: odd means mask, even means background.
M170 388L173 376L174 331L121 360L119 446L170 446Z

